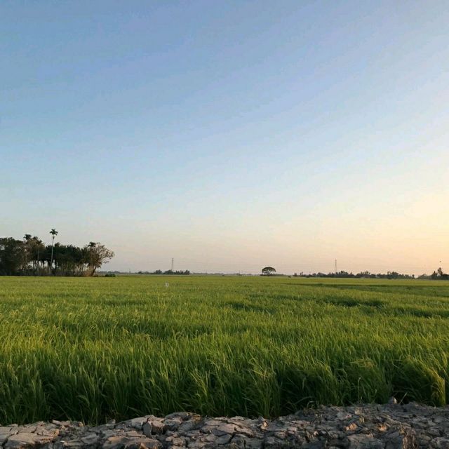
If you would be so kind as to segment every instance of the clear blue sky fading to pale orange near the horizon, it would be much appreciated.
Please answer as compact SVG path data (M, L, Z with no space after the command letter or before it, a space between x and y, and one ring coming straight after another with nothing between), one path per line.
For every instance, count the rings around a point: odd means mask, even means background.
M447 1L2 1L0 236L105 269L449 271Z

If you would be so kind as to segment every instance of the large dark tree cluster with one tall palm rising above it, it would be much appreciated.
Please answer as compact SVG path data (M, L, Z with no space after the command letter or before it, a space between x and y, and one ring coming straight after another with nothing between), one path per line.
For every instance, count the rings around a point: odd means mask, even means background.
M94 276L114 257L100 242L64 245L55 243L58 231L52 229L50 234L51 245L31 234L22 240L0 237L0 276Z

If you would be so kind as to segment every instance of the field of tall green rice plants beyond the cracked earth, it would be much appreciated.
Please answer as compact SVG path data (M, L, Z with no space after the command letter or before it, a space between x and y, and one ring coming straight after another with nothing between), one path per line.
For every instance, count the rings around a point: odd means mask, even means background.
M0 423L449 401L449 283L0 278Z

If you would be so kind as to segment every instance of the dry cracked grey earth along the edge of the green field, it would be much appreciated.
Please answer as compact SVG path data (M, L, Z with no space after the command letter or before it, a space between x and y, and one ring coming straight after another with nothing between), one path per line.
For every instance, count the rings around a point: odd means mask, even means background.
M449 406L409 403L323 407L276 420L172 413L97 427L69 421L12 424L0 427L0 447L449 449Z

